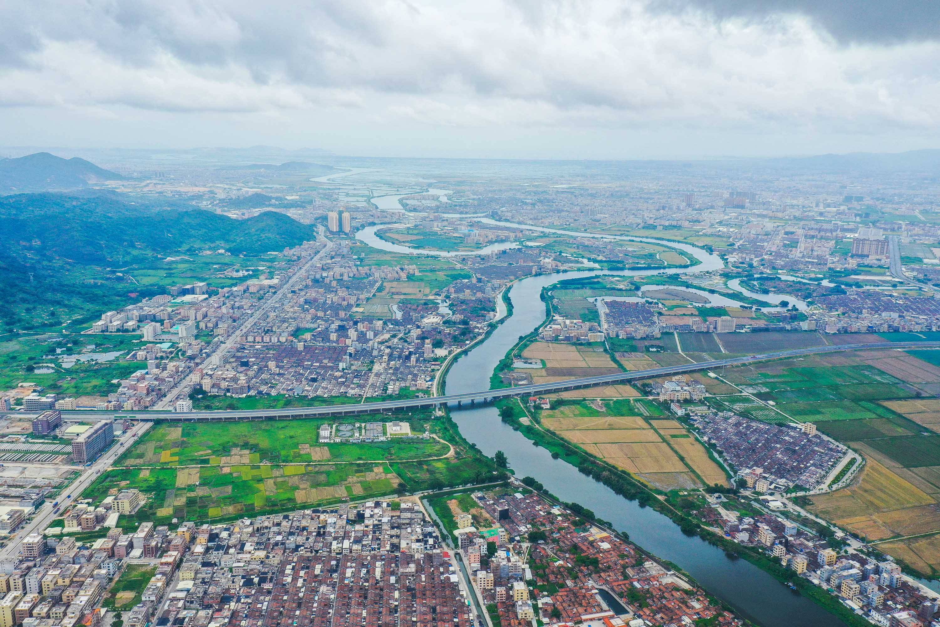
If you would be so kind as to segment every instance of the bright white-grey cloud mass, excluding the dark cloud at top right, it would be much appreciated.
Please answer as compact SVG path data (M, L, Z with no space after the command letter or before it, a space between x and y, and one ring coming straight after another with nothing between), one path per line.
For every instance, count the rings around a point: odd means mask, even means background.
M935 129L940 44L841 45L799 15L644 2L6 3L0 104L440 126Z

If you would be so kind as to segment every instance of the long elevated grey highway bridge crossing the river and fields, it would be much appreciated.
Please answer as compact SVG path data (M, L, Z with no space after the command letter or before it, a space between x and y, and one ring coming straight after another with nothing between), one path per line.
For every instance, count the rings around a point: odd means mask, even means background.
M642 379L652 379L672 374L683 374L697 370L721 368L723 366L740 366L760 361L785 359L804 355L839 353L843 351L858 351L872 349L911 349L911 348L940 348L940 342L873 342L868 344L843 344L840 346L817 346L791 351L778 351L776 353L763 353L744 357L731 357L729 359L716 359L681 366L664 366L662 368L649 368L634 370L632 372L618 372L604 374L596 377L582 377L579 379L566 379L547 384L516 385L496 390L479 390L464 392L462 394L449 394L446 396L426 397L423 399L407 400L379 400L342 405L322 405L320 407L290 407L286 409L253 409L253 410L219 410L219 411L193 411L193 412L102 412L97 410L78 410L62 412L65 418L88 417L115 417L131 420L170 420L191 422L196 420L267 420L267 419L293 419L310 418L323 415L356 415L396 410L417 409L419 407L437 407L440 405L462 405L463 403L489 402L507 397L529 397L573 390L594 385L622 384Z

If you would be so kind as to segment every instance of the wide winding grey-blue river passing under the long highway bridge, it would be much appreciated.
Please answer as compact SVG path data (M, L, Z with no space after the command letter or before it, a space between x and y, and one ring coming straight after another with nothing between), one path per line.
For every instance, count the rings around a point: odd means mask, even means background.
M374 198L373 201L375 200L379 198ZM383 206L376 204L379 207ZM482 221L493 224L490 220ZM590 237L585 233L574 231L528 225L512 226ZM369 244L378 240L374 230L360 231L357 237ZM667 245L694 256L700 262L689 268L674 268L665 271L669 274L706 272L719 269L724 265L717 255L690 244L628 236L616 236L614 239ZM386 248L387 242L378 241L381 244L377 247L388 249ZM471 392L487 389L490 386L490 375L503 355L515 345L519 337L531 333L544 321L545 306L540 299L542 288L570 278L602 274L634 276L663 272L663 270L567 272L541 274L516 282L509 290L509 299L512 302L511 315L500 323L490 337L454 363L446 376L446 394ZM760 294L755 294L755 297L760 297ZM794 300L791 299L791 302ZM771 303L772 306L774 304ZM553 460L548 450L532 446L525 436L503 423L495 407L451 407L450 411L463 436L469 442L476 444L484 454L493 456L497 450L502 450L509 458L509 465L517 477L537 478L558 498L569 502L574 501L592 509L600 518L613 523L618 530L627 532L631 541L651 554L682 567L685 572L696 579L699 585L731 605L745 619L763 627L791 627L796 624L802 627L845 626L844 622L822 607L795 594L790 588L780 584L770 574L761 571L750 562L744 559L729 559L722 549L697 537L689 538L682 534L679 525L658 511L641 508L635 501L628 501L602 483L581 474L571 464Z

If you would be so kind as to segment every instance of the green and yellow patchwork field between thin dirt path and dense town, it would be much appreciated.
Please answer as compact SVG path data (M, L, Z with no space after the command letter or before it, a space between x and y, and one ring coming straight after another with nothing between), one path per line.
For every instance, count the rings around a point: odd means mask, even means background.
M394 494L399 477L385 463L240 464L200 468L109 470L82 493L99 502L136 488L147 501L132 516L156 525L180 520L252 516L264 511Z

